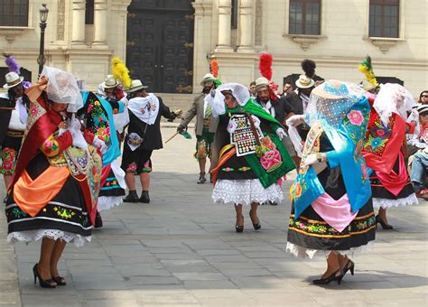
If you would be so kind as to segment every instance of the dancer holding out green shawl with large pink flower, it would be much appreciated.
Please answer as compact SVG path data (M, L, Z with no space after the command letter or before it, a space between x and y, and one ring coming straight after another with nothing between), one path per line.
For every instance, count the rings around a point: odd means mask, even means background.
M214 148L219 148L219 163L211 171L212 199L235 204L237 232L244 230L243 204L251 205L253 227L260 229L258 205L283 200L278 182L295 168L281 142L284 128L250 98L241 84L223 84L205 99L213 116L219 116L214 141Z

